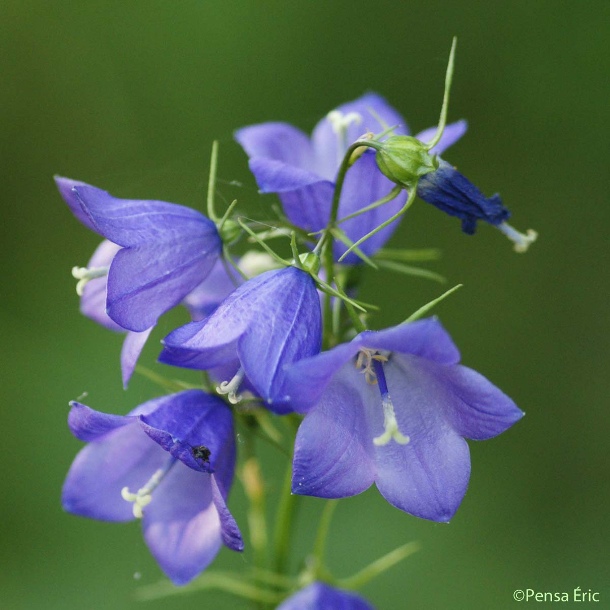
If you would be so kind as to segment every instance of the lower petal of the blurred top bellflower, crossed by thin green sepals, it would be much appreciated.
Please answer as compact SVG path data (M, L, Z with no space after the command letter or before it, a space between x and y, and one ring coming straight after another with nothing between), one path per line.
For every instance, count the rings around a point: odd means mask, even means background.
M345 183L343 184L339 204L339 220L385 197L395 186L392 181L379 171L375 162L375 154L373 152L365 152L345 175ZM376 207L370 210L370 212L361 214L345 223L341 223L339 228L346 232L352 242L357 242L361 237L364 237L368 232L397 213L404 206L406 198L407 193L403 190L389 203ZM390 239L399 223L400 218L397 218L392 224L389 224L389 226L381 229L381 231L378 231L363 242L359 248L367 256L372 256ZM336 241L334 243L335 257L339 258L346 249L347 246ZM354 253L349 254L344 260L346 264L357 264L361 261Z

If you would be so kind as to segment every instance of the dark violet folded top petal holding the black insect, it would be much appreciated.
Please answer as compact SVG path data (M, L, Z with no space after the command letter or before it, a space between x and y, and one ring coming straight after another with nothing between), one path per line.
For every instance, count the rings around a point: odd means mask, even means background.
M231 411L220 398L201 390L185 390L156 399L156 409L140 416L140 426L171 456L197 471L214 472L226 443L232 447ZM193 456L193 447L203 445L209 460Z

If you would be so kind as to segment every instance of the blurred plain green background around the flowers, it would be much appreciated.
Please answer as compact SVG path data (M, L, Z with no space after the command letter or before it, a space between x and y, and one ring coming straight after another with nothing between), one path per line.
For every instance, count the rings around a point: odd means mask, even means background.
M418 202L390 245L443 249L430 267L465 288L437 313L465 364L527 415L470 443L472 479L450 525L404 515L374 489L342 501L329 564L345 576L420 540L422 551L362 590L379 609L512 608L515 589L579 586L610 607L609 17L605 0L1 2L2 608L248 607L220 593L138 605L137 587L160 578L138 525L60 508L81 446L65 425L68 400L87 391L91 406L124 413L159 390L136 377L123 392L121 336L79 315L70 269L99 238L70 215L52 175L203 209L218 138L221 195L260 217L274 197L257 195L236 127L285 120L310 131L366 90L414 131L428 127L454 34L450 118L470 129L445 157L500 192L515 226L540 239L519 256L495 229L467 237ZM379 271L362 298L381 301L381 328L440 292ZM156 340L186 318L163 318L144 364L162 368ZM263 457L273 505L281 464ZM303 501L296 557L322 505ZM239 484L231 507L246 529ZM223 550L215 565L250 562Z

